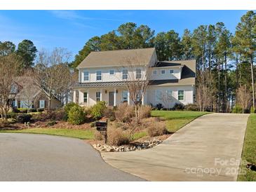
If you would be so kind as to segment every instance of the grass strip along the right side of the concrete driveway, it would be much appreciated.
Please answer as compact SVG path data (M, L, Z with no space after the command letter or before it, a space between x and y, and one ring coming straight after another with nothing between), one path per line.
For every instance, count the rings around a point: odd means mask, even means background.
M256 114L248 118L238 181L256 181L256 172L246 168L247 163L256 165Z

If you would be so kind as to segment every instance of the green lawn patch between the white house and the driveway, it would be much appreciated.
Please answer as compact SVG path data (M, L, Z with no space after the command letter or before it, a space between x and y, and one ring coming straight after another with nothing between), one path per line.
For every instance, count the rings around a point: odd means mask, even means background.
M205 114L209 113L201 111L151 111L151 116L159 116L166 119L166 128L169 132L176 132L195 118Z

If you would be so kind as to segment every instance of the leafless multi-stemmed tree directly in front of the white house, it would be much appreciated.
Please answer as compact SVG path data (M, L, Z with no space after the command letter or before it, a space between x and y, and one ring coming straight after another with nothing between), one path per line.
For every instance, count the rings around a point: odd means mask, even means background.
M122 67L118 69L121 72L121 77L119 78L125 82L130 100L135 107L135 121L140 123L140 105L149 86L151 71L149 65L140 60L138 54L135 54L133 57L126 57L123 62Z

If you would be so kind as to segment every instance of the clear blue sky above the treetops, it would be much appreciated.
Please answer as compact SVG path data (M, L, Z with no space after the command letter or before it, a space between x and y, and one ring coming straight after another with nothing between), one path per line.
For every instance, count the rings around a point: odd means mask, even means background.
M36 47L64 47L76 55L88 39L124 22L148 25L156 33L174 29L182 35L198 25L224 22L234 32L246 11L0 11L0 41L16 45L30 39Z

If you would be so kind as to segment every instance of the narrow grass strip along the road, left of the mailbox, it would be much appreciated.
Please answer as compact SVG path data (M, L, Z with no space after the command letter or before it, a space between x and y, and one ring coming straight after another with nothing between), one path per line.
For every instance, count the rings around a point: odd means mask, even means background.
M46 135L59 135L78 139L94 139L93 130L55 129L55 128L31 128L25 130L0 130L0 132L34 133Z

